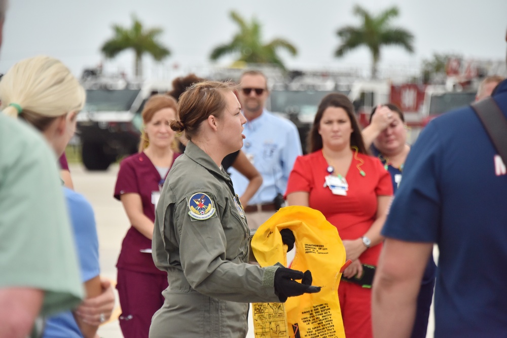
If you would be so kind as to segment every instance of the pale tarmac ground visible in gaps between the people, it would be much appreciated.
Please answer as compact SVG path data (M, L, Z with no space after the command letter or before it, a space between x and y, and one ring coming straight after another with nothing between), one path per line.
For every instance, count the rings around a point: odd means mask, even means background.
M121 243L130 227L122 204L113 197L118 173L118 164L112 165L107 171L86 171L81 164L71 164L70 173L74 189L83 194L92 204L97 222L99 238L99 255L101 276L116 282L116 260ZM116 294L116 307L110 322L104 323L98 330L101 338L123 338L118 323L120 307ZM251 311L250 311L251 314ZM433 337L433 316L430 318L427 338ZM253 322L248 319L249 331L247 338L253 338Z

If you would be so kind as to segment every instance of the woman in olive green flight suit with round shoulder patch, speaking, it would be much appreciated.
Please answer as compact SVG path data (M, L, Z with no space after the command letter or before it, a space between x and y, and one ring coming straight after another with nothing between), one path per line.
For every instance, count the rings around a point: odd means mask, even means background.
M155 265L167 271L164 306L150 337L244 337L249 302L285 302L318 292L311 273L248 264L250 233L223 158L243 145L231 84L202 82L179 100L171 128L189 139L156 209ZM301 283L295 280L302 280Z

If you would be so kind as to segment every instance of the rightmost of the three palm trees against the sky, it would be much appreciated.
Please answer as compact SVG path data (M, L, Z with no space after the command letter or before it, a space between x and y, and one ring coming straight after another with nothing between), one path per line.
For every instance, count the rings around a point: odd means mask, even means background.
M338 29L336 33L341 38L342 44L335 52L336 57L341 57L350 50L365 45L372 53L372 77L376 78L382 46L398 45L410 53L414 52L412 45L414 35L406 29L390 25L391 19L399 15L397 7L391 7L374 16L356 5L354 14L361 17L363 23L357 27L345 26Z

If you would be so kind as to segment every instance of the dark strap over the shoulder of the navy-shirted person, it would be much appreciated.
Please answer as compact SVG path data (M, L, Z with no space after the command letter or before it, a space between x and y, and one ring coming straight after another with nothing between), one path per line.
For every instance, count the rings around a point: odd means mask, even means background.
M503 163L507 164L507 119L491 96L472 103L472 108L488 132Z

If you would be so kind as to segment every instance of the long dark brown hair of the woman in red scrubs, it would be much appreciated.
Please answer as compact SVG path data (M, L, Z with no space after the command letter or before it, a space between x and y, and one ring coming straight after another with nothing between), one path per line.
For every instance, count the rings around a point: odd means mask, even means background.
M365 142L363 141L363 136L361 135L361 129L359 128L359 124L355 119L354 106L347 96L340 93L328 94L324 96L320 101L317 108L317 113L315 114L315 119L313 120L313 126L308 133L308 153L313 153L319 149L322 149L322 136L320 136L318 133L318 128L320 126L320 120L322 119L322 115L324 115L325 109L329 107L343 108L347 112L347 115L350 119L350 124L352 125L352 134L350 134L350 146L356 146L358 152L361 154L368 154L365 147Z

